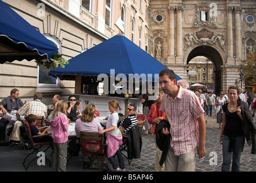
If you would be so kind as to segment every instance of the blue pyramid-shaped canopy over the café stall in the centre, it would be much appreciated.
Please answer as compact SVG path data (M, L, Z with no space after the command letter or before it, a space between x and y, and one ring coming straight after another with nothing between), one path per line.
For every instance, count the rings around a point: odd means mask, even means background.
M146 53L123 35L114 37L100 43L91 49L84 51L69 59L69 64L64 68L51 69L51 75L61 77L63 75L98 76L106 74L108 77L117 77L117 74L146 75L141 81L154 81L154 74L159 74L166 69L161 62ZM152 79L150 79L150 74ZM124 79L124 78L123 78ZM177 80L181 79L177 76ZM127 81L127 80L126 80Z

